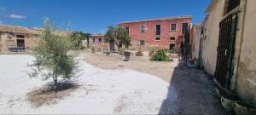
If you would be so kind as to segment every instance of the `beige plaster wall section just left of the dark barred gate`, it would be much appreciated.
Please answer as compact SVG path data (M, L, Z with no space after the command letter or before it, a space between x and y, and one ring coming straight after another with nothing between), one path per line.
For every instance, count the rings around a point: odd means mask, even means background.
M206 72L214 75L217 61L219 22L224 15L224 0L216 1L205 22L205 37L202 45L202 65Z

